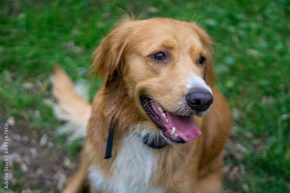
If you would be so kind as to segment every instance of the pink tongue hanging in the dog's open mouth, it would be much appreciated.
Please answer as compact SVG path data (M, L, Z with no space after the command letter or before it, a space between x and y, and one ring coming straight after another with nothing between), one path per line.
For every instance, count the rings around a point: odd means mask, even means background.
M171 129L175 127L175 132L184 141L197 139L201 135L193 116L178 116L168 112L166 112L166 116L169 127Z

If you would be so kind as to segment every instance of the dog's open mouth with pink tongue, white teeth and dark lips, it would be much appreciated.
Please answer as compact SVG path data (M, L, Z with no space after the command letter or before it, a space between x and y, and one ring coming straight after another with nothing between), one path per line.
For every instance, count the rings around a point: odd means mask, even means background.
M148 117L160 128L166 139L181 144L197 139L201 135L192 115L174 115L145 95L140 96L140 102Z

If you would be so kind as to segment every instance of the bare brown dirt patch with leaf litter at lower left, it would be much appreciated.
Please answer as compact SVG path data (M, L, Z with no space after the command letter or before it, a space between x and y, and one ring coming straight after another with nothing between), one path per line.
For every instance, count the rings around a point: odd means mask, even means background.
M4 122L1 122L1 127ZM70 161L68 155L55 158L62 149L52 131L39 130L35 135L29 122L9 124L9 188L14 192L61 192L80 163L80 156ZM1 128L2 131L2 128ZM3 133L3 132L1 132ZM4 155L4 135L0 136L0 155ZM7 154L5 154L7 155ZM0 170L5 163L1 159ZM3 179L3 177L1 177ZM1 191L0 191L1 192Z

